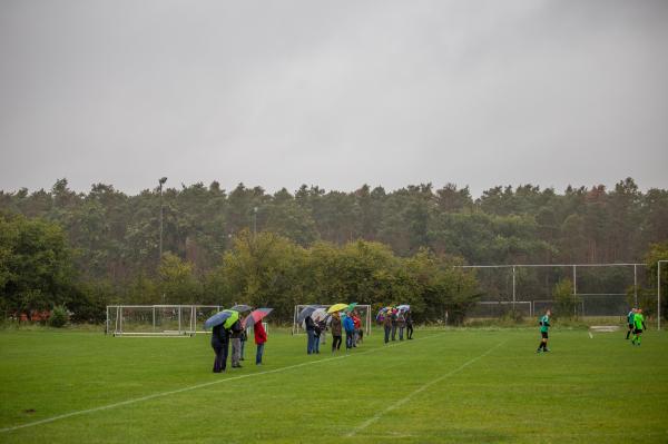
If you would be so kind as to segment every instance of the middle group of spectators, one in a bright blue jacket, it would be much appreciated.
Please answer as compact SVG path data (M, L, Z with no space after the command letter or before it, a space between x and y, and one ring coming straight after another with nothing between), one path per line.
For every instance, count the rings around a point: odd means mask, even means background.
M304 319L306 329L306 354L320 354L320 346L325 345L327 329L332 333L332 353L341 349L343 333L345 333L345 348L357 347L364 339L362 318L356 310L348 313L335 312L325 318L313 319L306 316Z

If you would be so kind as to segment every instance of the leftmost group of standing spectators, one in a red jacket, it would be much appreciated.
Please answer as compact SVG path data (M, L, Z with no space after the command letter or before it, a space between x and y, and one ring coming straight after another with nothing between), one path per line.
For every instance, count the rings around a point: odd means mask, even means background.
M267 333L262 325L262 322L254 324L253 333L255 336L255 345L257 346L255 353L255 364L262 365L264 345L267 342ZM240 362L245 361L244 351L246 348L247 341L248 332L243 327L242 320L236 320L229 328L225 328L223 324L215 326L212 332L212 347L216 354L216 358L214 359L214 373L225 372L227 367L227 355L229 353L230 342L232 367L240 368Z

